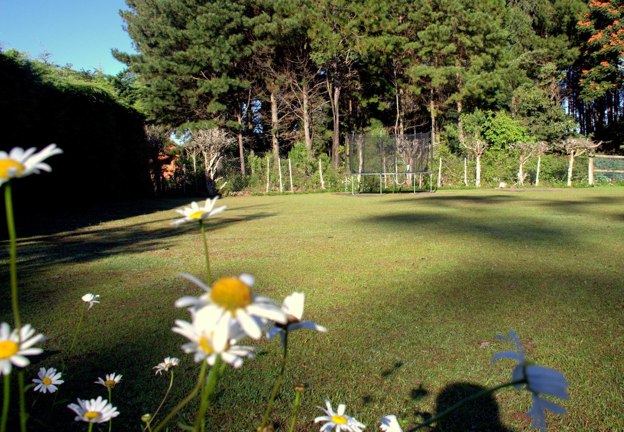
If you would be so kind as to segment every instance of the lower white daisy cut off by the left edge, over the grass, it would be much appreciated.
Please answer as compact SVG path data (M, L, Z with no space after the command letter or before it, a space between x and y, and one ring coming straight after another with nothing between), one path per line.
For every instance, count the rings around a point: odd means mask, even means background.
M19 329L11 331L7 323L0 324L0 372L2 375L11 373L12 365L24 368L31 364L26 358L27 355L38 355L43 352L41 348L32 348L38 342L46 340L46 336L41 333L35 335L35 331L30 324L22 325Z

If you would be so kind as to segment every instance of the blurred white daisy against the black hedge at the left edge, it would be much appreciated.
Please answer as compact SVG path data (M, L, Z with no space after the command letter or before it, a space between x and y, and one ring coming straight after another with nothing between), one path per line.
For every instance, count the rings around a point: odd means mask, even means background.
M50 144L41 152L36 152L35 147L24 150L21 147L13 147L11 151L0 151L0 185L11 179L26 177L31 174L39 174L44 170L51 172L52 168L43 161L56 154L61 154L63 150L58 149L56 144Z

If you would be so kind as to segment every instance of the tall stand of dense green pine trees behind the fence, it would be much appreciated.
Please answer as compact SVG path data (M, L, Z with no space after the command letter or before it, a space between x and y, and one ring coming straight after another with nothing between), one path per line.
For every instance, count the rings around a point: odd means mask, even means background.
M252 159L303 142L337 168L344 134L375 121L432 128L465 155L475 109L492 112L491 149L577 132L619 143L620 3L133 0L120 13L139 54L113 54L152 119L226 127Z

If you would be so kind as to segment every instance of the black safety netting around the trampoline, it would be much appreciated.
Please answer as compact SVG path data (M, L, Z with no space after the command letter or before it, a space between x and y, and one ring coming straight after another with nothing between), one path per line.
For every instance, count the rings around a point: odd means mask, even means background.
M347 174L406 174L431 172L431 132L411 135L348 135Z

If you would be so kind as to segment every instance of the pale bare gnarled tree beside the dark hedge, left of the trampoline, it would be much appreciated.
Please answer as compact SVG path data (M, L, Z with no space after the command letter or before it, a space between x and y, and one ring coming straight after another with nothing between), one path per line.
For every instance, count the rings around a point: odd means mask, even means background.
M215 195L215 184L220 179L217 177L217 166L223 158L223 152L233 144L234 139L228 137L225 130L215 128L199 129L191 134L190 140L203 155L206 191L212 197Z

